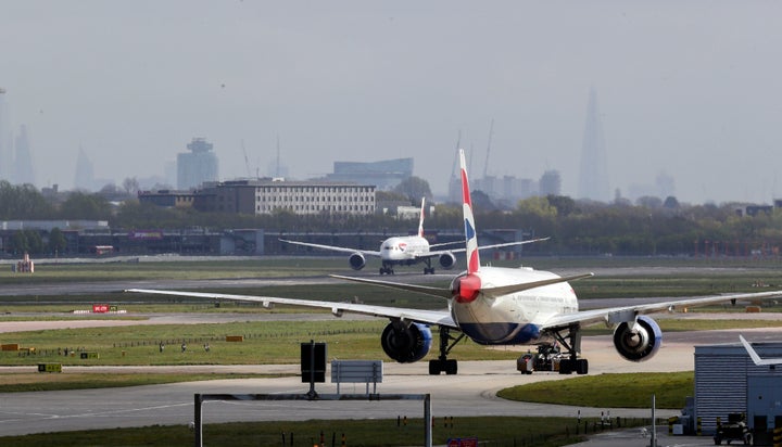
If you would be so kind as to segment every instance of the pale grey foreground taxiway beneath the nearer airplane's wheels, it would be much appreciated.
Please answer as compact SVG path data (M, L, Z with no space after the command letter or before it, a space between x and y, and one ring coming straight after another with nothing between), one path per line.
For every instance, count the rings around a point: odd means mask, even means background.
M682 371L693 369L694 345L734 343L740 331L679 332L668 334L658 355L643 363L625 361L614 352L609 336L585 337L583 350L590 360L591 374L606 372ZM780 330L743 330L753 341L780 340ZM522 350L522 349L519 349ZM457 354L456 354L457 357ZM64 370L78 370L65 367ZM93 371L130 370L142 373L166 368L213 371L291 372L291 366L232 367L81 367ZM10 367L0 371L8 372ZM18 369L16 369L18 370ZM572 375L576 376L576 375ZM328 374L327 374L328 378ZM437 417L470 416L558 416L576 418L611 417L647 418L648 409L577 408L507 401L495 396L497 389L534 381L567 380L556 373L521 375L513 361L462 361L458 375L431 376L426 362L384 363L379 394L431 394L432 413ZM365 385L342 385L342 393L365 393ZM207 382L150 385L61 392L8 393L0 397L0 435L61 432L87 429L112 429L153 424L188 424L193 420L193 396L200 394L304 394L307 384L299 378L216 380ZM318 393L336 393L328 382L316 386ZM683 403L682 403L683 405ZM395 419L420 417L419 401L211 401L204 405L204 422L307 420L307 419ZM658 410L659 418L679 414L678 410Z

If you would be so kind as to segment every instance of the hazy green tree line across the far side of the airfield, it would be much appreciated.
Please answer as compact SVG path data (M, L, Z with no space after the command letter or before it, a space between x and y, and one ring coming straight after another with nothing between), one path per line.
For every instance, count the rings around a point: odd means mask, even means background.
M428 188L427 188L428 190ZM398 200L420 205L420 194L378 192L378 201ZM432 204L429 194L427 203ZM480 191L472 192L479 229L524 230L550 237L545 244L525 247L526 253L558 255L777 255L782 245L782 215L778 209L747 216L741 204L680 204L674 197L642 197L635 203L573 200L563 195L535 196L500 207ZM462 205L434 204L425 230L459 231ZM162 208L140 203L134 195L110 201L101 193L72 192L46 197L31 186L0 181L0 220L106 220L115 231L202 227L213 230L263 228L269 232L377 232L404 234L417 228L416 219L391 215L295 215L280 209L270 215L201 213L192 208ZM63 243L55 233L45 243L36 231L18 231L14 250L53 253ZM8 250L8 247L7 247ZM60 248L62 250L62 248Z

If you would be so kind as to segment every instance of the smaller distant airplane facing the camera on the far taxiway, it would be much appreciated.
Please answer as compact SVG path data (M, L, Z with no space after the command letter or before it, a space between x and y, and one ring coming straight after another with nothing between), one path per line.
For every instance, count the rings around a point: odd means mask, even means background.
M452 245L453 243L429 245L429 241L424 237L425 203L426 197L422 197L420 218L418 219L418 233L415 235L388 238L380 243L380 250L377 252L370 250L350 248L344 246L314 244L311 242L290 241L287 239L280 239L279 241L288 244L350 253L350 256L348 257L348 264L350 264L353 270L363 269L366 266L367 256L379 257L382 263L382 266L380 267L380 276L394 274L393 266L395 265L411 266L418 263L426 264L426 267L424 267L424 274L434 274L434 267L432 267L432 258L438 258L440 267L444 268L445 270L451 270L456 265L456 257L454 256L454 253L465 252L465 248L431 251L431 248ZM520 242L506 242L502 244L484 245L481 246L480 250L500 248L512 245L525 245L533 242L545 241L548 238L542 238Z

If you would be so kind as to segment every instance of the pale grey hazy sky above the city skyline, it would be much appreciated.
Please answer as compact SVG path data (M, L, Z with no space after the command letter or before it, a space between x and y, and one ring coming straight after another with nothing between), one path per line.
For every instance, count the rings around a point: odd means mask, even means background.
M558 169L578 195L590 88L609 184L676 179L682 202L782 196L779 1L2 1L0 87L38 187L163 175L193 137L222 179L415 157L444 193Z

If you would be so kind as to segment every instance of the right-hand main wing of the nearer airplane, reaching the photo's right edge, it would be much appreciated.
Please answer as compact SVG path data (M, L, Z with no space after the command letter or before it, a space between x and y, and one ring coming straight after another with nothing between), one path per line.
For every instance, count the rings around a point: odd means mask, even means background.
M636 316L673 310L677 307L697 307L709 304L732 302L736 299L765 299L782 297L782 291L732 293L724 295L704 296L698 298L684 298L665 303L642 304L639 306L609 307L604 309L581 310L571 314L558 314L541 322L541 329L562 328L568 324L580 323L591 325L600 322L615 324L623 321L633 321Z

